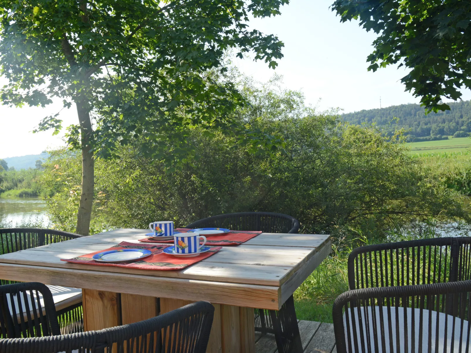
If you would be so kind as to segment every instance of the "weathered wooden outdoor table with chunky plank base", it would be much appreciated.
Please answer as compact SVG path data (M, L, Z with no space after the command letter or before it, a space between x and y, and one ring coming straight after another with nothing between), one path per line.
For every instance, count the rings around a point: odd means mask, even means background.
M252 308L279 310L331 252L330 235L262 233L183 270L151 271L60 261L138 243L118 229L0 256L0 278L82 288L86 330L145 320L197 300L216 310L208 352L254 352ZM141 243L142 244L142 243Z

